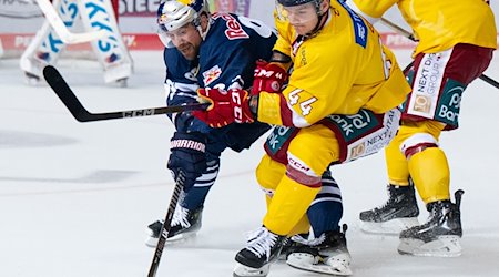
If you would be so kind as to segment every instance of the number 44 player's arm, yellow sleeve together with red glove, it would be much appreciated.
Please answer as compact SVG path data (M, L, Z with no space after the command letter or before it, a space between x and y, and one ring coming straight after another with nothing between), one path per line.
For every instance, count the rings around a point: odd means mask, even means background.
M360 60L340 59L344 54L343 51L328 55L320 52L308 60L309 64L295 66L282 93L261 91L249 95L237 90L221 93L202 89L198 91L201 99L212 105L206 112L194 112L194 115L215 127L255 120L295 127L312 125L338 111L353 86ZM317 59L322 62L316 63Z

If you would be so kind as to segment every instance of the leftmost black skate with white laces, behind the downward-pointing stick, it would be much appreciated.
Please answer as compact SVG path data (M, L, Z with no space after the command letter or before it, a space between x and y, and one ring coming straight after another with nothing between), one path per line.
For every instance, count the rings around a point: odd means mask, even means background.
M176 205L169 232L169 238L166 239L166 242L173 243L195 236L197 230L200 230L201 228L202 213L203 206L196 209L186 209L181 205ZM149 234L149 237L145 240L145 245L156 247L163 223L164 219L161 219L151 223L147 226L146 232Z

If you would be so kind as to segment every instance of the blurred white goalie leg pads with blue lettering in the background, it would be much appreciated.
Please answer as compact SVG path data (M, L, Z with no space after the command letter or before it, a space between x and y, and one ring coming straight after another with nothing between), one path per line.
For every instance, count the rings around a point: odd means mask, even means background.
M105 31L103 38L91 41L93 53L104 70L104 82L126 86L133 61L118 27L118 0L54 0L53 7L70 30ZM55 64L65 47L45 20L20 60L28 83L39 83L43 68Z

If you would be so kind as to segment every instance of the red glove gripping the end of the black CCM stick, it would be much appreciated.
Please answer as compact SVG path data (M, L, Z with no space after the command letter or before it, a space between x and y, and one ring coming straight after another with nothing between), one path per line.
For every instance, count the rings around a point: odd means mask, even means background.
M201 102L210 103L206 111L193 111L192 114L211 127L223 127L233 122L251 123L255 120L249 111L247 91L231 89L198 89L197 95Z

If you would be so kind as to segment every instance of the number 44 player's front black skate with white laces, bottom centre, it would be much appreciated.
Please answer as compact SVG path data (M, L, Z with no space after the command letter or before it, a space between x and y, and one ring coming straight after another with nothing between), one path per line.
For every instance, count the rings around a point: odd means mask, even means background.
M235 260L233 277L265 277L271 264L278 259L283 246L287 243L285 236L276 235L261 227L248 236L246 248L240 250Z

